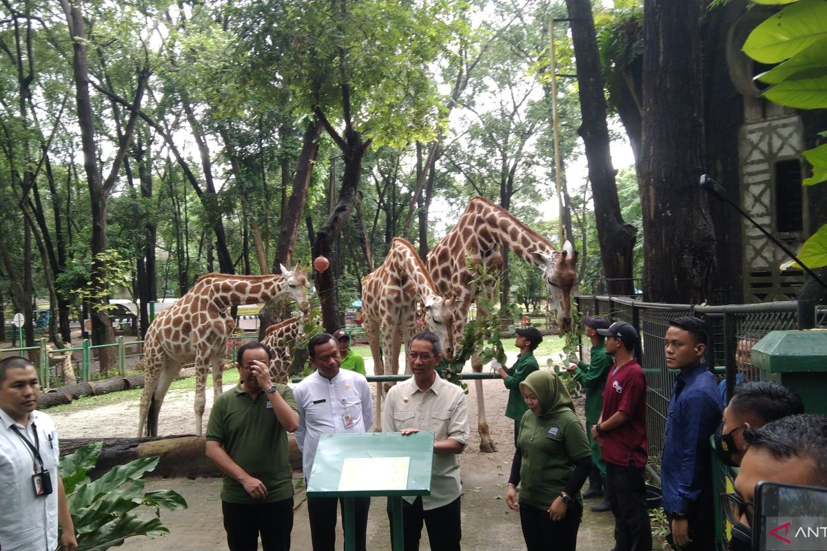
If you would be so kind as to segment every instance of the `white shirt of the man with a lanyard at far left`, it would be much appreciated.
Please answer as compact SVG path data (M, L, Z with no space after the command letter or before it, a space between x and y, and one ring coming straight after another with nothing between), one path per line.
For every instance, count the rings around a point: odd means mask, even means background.
M29 414L26 427L0 410L0 549L36 551L57 549L57 475L60 451L55 423L41 411ZM17 426L31 444L37 430L43 467L49 471L53 492L35 496L31 476L40 470L31 449L12 430ZM13 504L13 505L11 505Z

